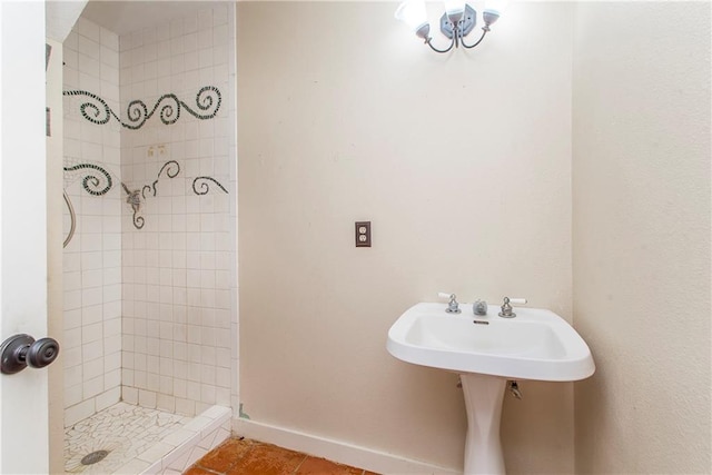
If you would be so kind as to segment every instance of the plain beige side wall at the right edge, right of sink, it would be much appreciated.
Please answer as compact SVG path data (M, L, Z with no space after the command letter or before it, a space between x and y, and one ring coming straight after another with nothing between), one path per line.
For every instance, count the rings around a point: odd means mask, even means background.
M710 3L578 7L577 473L710 473Z

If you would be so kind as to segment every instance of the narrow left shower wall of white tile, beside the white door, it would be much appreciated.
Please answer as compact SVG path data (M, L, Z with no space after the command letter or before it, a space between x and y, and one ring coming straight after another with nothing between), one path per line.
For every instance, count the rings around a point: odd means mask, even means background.
M118 37L80 18L63 43L65 91L87 91L118 110ZM65 191L76 211L76 231L63 255L65 425L117 403L121 375L120 126L87 120L86 95L65 96ZM101 109L85 109L97 120ZM108 179L92 165L106 170ZM92 178L95 177L95 178ZM92 191L92 192L90 192ZM63 215L70 230L69 208Z

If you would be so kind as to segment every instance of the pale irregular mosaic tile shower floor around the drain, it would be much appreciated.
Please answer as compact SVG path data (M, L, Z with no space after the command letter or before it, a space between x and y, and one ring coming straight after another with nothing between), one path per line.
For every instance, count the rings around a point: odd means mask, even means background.
M113 473L189 420L190 417L117 403L65 431L65 473ZM108 454L91 465L82 463L91 462L85 457L98 451Z

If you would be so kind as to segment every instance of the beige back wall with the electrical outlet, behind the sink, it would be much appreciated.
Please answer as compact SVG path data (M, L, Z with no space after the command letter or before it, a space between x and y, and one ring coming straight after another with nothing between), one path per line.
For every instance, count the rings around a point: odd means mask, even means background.
M462 467L457 376L393 358L386 333L439 290L571 318L573 8L513 3L482 48L439 56L396 4L238 3L240 398L255 422ZM572 385L523 390L510 472L572 472Z

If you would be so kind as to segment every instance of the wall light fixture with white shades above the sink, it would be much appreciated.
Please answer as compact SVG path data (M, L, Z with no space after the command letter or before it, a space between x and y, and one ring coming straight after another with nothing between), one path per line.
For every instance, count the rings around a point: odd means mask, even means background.
M438 49L433 46L431 37L431 23L427 21L425 12L425 0L405 0L398 6L395 17L405 22L418 38L423 38L425 43L433 51L447 52L454 48L474 48L484 40L490 32L490 26L497 21L504 10L504 0L490 0L482 12L482 36L472 44L465 42L465 37L474 30L477 23L477 12L474 8L465 3L464 0L445 0L445 13L441 17L441 32L445 34L451 43L446 49Z

